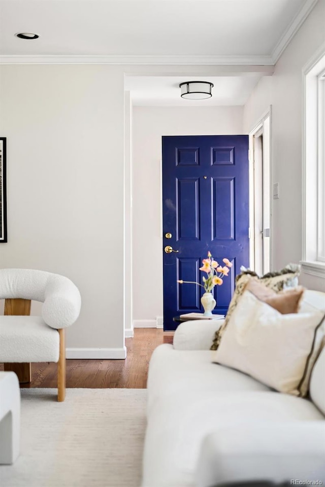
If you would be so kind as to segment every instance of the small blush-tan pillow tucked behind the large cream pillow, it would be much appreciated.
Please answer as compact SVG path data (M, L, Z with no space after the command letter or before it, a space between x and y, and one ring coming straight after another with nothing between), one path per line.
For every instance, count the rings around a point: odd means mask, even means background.
M245 290L250 291L257 299L269 304L282 315L298 313L299 304L304 294L302 286L276 293L254 278L249 280Z

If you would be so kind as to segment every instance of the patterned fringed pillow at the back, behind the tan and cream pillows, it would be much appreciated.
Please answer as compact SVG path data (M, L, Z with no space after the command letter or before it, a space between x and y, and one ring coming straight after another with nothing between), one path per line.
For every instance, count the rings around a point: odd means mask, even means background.
M231 315L234 312L238 301L240 300L243 292L245 291L245 287L248 281L253 278L258 279L259 282L263 283L265 286L267 286L270 289L273 289L276 292L282 291L283 289L286 288L295 287L298 284L300 267L299 266L295 267L292 264L291 267L297 270L296 271L289 270L288 272L286 272L286 270L289 268L289 266L287 266L278 272L272 272L272 273L270 272L260 278L257 276L257 274L255 274L255 272L252 271L242 272L241 274L238 274L236 276L236 287L235 287L232 300L229 303L229 308L225 316L223 325L221 325L219 330L215 332L214 340L212 342L210 350L218 349L222 334L229 323Z

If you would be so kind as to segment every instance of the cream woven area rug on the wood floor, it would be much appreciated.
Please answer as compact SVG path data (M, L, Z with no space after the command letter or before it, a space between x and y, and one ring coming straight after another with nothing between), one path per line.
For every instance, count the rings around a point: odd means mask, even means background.
M1 487L139 487L145 389L21 389L20 456Z

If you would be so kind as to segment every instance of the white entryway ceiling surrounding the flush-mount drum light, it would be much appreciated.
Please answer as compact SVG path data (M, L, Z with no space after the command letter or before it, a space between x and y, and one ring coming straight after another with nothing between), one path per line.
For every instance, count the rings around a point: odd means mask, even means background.
M181 98L179 84L191 81L184 76L125 77L125 89L131 92L133 105L145 107L211 107L244 105L261 74L250 76L200 76L200 81L213 83L212 98L187 100ZM196 81L196 78L192 81Z

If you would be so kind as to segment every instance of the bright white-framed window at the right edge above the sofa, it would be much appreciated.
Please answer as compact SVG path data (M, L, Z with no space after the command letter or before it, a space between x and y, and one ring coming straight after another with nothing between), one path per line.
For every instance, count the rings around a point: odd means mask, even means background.
M305 272L325 275L325 51L303 69L303 255Z

